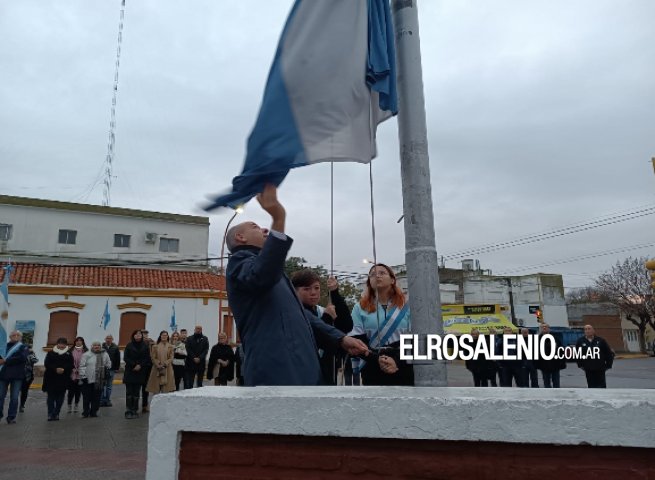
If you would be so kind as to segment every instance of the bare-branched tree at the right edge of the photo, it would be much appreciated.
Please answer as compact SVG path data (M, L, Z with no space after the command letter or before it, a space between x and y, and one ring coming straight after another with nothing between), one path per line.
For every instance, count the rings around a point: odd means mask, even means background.
M655 297L645 257L617 262L596 279L596 288L639 329L639 348L646 353L646 329L655 329Z

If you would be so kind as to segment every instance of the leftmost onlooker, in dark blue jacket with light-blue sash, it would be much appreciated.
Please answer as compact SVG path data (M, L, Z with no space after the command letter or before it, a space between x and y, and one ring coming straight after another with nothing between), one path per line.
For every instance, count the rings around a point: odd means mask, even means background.
M7 410L7 423L16 423L18 412L18 396L20 387L25 380L25 363L27 362L27 346L21 343L23 334L15 330L9 335L7 353L0 357L0 418L5 409L7 390L11 388L9 409Z

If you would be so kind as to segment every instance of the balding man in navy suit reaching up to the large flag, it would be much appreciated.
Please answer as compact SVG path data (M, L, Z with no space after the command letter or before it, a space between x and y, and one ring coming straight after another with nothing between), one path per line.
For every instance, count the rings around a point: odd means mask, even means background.
M271 230L244 222L226 236L227 295L245 353L244 384L320 385L318 348L351 355L368 349L303 308L284 274L293 240L284 233L286 212L275 186L266 185L257 201L272 218Z

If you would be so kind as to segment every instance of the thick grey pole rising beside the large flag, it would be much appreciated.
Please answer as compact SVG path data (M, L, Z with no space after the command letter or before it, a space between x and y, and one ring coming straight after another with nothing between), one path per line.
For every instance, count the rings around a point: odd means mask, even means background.
M425 121L421 45L416 0L393 0L398 65L398 137L403 186L405 262L412 333L443 335L439 263L435 247L430 159ZM420 353L425 353L421 351ZM443 360L414 362L418 387L448 384Z

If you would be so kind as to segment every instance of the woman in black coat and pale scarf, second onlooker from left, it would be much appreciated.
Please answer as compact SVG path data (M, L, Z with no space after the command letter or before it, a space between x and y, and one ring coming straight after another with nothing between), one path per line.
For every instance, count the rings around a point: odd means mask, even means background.
M47 394L48 421L59 420L59 412L64 404L66 389L73 371L73 356L68 348L68 340L57 339L51 351L45 357L45 373L41 390Z

